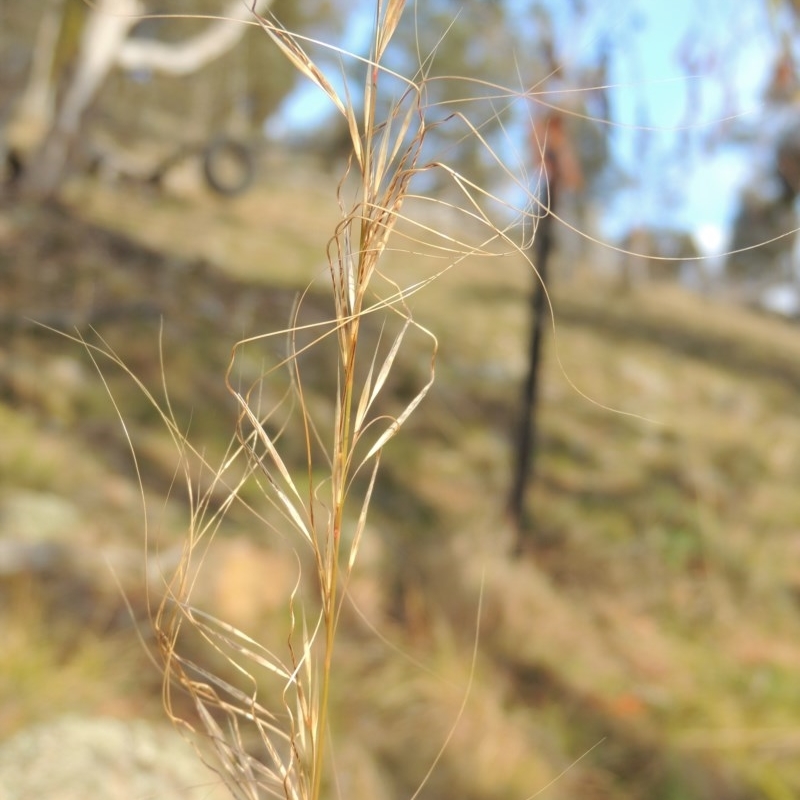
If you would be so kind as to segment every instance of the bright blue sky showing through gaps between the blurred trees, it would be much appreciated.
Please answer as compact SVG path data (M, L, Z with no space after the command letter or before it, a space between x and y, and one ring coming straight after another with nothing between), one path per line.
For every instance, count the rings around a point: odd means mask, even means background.
M532 0L506 1L531 19ZM781 20L769 16L767 0L584 0L576 15L579 2L546 3L559 58L569 75L611 43L611 142L633 178L610 199L603 233L643 224L721 235L754 168L754 148L730 144L730 133L764 124L761 91ZM371 21L354 11L343 47L365 51ZM319 90L299 90L271 131L317 122L329 113L323 100Z

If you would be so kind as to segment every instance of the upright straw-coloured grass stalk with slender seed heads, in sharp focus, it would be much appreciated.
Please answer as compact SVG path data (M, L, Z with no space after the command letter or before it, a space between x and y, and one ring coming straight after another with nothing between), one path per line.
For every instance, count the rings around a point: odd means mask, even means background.
M195 613L188 602L183 575L171 585L166 605L156 618L167 671L193 697L198 715L217 747L222 764L220 771L241 797L254 798L262 790L287 800L319 800L324 793L326 738L343 592L356 563L382 449L417 408L433 381L436 339L413 319L406 305L407 298L424 283L402 288L380 269L398 222L402 219L404 223L411 223L402 215L402 207L407 198L414 196L410 191L412 179L424 169L443 166L439 163L420 165L423 142L429 130L422 101L424 74L418 82L400 79L404 92L387 117L378 119L383 77L391 77L393 81L399 78L385 71L381 61L404 5L404 0L377 0L375 4L372 48L369 58L363 60L366 76L361 121L356 118L354 104L337 94L303 49L302 40L282 28L274 18L258 17L275 45L328 95L344 116L353 146L350 169L359 174L359 189L357 197L349 204L345 200L347 184L344 181L339 190L342 219L327 249L333 299L331 321L313 330L305 329L298 322L298 309L289 329L240 342L234 349L228 377L229 389L240 406L238 452L248 458L247 476L264 479L263 486L273 508L310 552L318 617L312 624L306 620L309 607L305 605L305 598L300 597L298 584L297 594L290 602L292 626L285 663L275 654L259 648L241 631L208 615ZM469 124L467 130L470 134L477 133ZM489 254L488 245L492 241L508 237L489 223L481 210L477 199L480 190L457 173L446 168L445 172L464 192L468 206L475 209L470 215L489 227L486 242L477 247L466 246L442 234L445 241L442 250L449 262L445 269L449 269L467 254ZM427 234L431 229L417 225L425 238L429 238ZM515 246L514 249L520 248ZM380 288L375 280L378 277ZM400 330L388 349L379 347L370 351L363 344L365 318L374 314L386 319L394 317L400 322ZM385 412L375 411L375 404L386 389L397 354L411 329L431 342L430 374L405 408L387 417ZM309 344L298 345L301 331L312 335ZM264 416L259 410L256 387L242 393L230 378L240 348L274 337L286 337L289 344L285 361L276 369L288 367L292 375L295 411L306 448L308 488L305 492L296 484L281 455L279 436L270 433L267 424L270 414ZM337 363L335 403L326 433L326 425L314 418L306 403L302 358L308 348L329 339L336 344ZM327 465L325 479L315 477L320 451ZM362 497L356 500L352 493L356 478L363 472L369 474L369 482ZM197 516L198 531L201 518L202 515ZM189 556L191 551L190 547ZM298 608L300 620L296 619ZM239 688L230 679L181 656L183 625L199 632L212 650L227 662L242 685L249 688ZM260 687L253 672L254 665L283 682L282 714L269 711L258 699ZM224 716L227 733L212 711ZM242 743L243 725L255 727L259 732L264 754L260 761L250 756Z

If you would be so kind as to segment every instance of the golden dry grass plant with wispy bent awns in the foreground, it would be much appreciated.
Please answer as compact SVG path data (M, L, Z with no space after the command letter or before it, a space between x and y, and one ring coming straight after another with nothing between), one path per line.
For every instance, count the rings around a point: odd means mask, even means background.
M334 645L381 452L423 400L434 378L437 341L415 321L409 298L468 256L494 255L497 242L524 252L522 243L515 243L509 233L516 229L512 227L516 221L496 225L485 210L499 203L498 198L445 163L422 163L426 134L439 124L428 119L425 61L413 78L383 66L404 6L404 0L376 0L368 58L303 39L271 16L254 15L265 35L344 117L352 156L339 186L341 218L327 248L331 318L303 322L301 296L283 330L234 346L226 381L238 405L238 423L222 463L212 464L189 442L170 405L166 381L166 400L159 401L109 347L87 344L90 353L110 358L131 375L159 409L180 455L191 525L180 565L165 579L163 597L154 598L152 615L165 674L164 703L171 718L189 730L194 731L200 720L216 751L215 766L237 798L270 795L319 800L329 788L326 738L331 687L336 680ZM366 73L361 102L337 92L308 54L310 45L330 47L341 57L360 62ZM486 91L499 96L497 87L487 86ZM380 109L386 103L381 100L391 103L385 116ZM363 116L356 108L363 108ZM478 126L458 114L449 119L463 124L465 136L474 137L476 145L486 148L511 175ZM460 208L412 193L415 178L434 169L448 176L461 193ZM524 181L517 183L524 186ZM403 210L409 200L418 211L422 209L421 217L433 218L434 214L424 212L437 204L448 212L460 211L470 229L479 232L478 241L462 241L434 223L410 218ZM390 240L395 238L405 241L410 254L427 250L441 259L443 267L403 285L402 278L382 269ZM372 326L381 331L377 342L375 337L365 341L367 317L379 318L377 326ZM413 394L394 408L398 401L389 396L392 370L412 332L417 334L415 341L428 342L430 369ZM260 379L240 385L241 356L265 344L272 355L276 348L283 348L283 356ZM312 409L304 389L308 380L304 357L313 348L323 347L331 348L331 385L336 387L332 411ZM286 376L287 390L272 406L265 399L264 379L276 371ZM124 414L118 413L124 427ZM285 448L296 452L298 443L305 463L300 471L285 454ZM130 438L129 444L133 451ZM259 512L242 495L243 487L254 482L271 510ZM193 604L193 591L214 534L237 504L252 511L267 533L288 542L296 553L297 579L287 598L289 629L282 652ZM176 687L183 693L176 694ZM186 694L193 707L188 715L185 703L178 699Z

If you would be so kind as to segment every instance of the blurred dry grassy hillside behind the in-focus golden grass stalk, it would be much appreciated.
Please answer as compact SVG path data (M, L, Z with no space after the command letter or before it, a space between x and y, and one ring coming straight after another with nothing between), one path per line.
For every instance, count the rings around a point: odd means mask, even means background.
M0 207L0 739L64 714L162 716L147 615L188 524L178 454L131 379L53 329L102 339L162 401L166 387L218 461L234 343L285 328L309 284L300 321L330 314L333 183L270 177L233 201L79 181L59 205ZM411 285L441 266L398 252L387 272ZM468 259L412 300L437 380L387 449L351 587L343 796L410 796L456 722L421 798L797 796L796 327L670 283L621 291L562 254L534 546L515 560L503 507L531 286L521 258ZM282 352L246 350L234 380ZM321 413L325 357L303 362ZM409 339L396 396L429 358ZM287 381L265 378L265 402ZM246 498L267 513L256 487ZM198 604L282 646L291 549L233 508Z

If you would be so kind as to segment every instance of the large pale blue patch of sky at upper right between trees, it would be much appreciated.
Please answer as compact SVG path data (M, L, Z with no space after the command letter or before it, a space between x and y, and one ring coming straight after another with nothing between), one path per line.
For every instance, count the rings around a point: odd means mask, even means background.
M661 130L616 132L616 155L638 185L620 194L612 217L724 228L755 168L752 148L726 139L764 123L761 92L779 23L759 0L624 5L636 6L638 19L627 52L613 61L614 118Z

